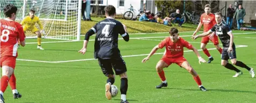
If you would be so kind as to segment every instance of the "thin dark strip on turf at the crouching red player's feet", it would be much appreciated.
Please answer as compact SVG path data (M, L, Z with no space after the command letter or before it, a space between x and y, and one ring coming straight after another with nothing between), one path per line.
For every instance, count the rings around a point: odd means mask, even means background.
M179 89L179 88L161 88L161 89L174 89L174 90L189 90L189 91L200 91L199 89ZM207 89L207 91L217 91L217 92L238 92L238 93L254 93L253 91L241 91L241 90L224 90L224 89Z

